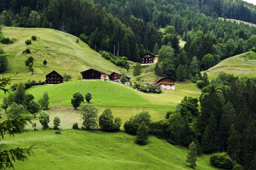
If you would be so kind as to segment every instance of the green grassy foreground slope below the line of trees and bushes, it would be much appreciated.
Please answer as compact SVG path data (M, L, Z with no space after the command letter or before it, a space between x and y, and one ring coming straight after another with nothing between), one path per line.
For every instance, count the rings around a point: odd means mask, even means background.
M135 143L124 132L61 130L28 131L4 136L2 150L28 147L36 143L35 156L17 161L16 169L190 169L187 149L181 149L150 136L146 146ZM64 149L65 148L65 149ZM146 150L148 148L148 150ZM200 155L196 169L215 169L209 155ZM183 167L185 166L185 167Z

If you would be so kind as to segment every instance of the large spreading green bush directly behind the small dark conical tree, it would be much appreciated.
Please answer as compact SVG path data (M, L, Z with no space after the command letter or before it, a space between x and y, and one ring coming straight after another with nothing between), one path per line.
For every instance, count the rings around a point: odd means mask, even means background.
M130 117L130 119L124 123L125 132L129 134L136 134L141 122L144 122L146 126L150 125L150 118L151 116L148 111L142 111L139 114Z

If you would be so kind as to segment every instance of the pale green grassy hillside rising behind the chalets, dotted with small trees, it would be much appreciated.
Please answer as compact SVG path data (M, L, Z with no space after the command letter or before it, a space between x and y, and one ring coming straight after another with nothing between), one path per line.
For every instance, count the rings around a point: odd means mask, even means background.
M104 59L83 41L80 40L79 43L76 43L77 37L68 33L45 28L3 27L2 34L9 38L16 38L17 41L10 45L0 44L0 48L3 48L6 53L14 54L8 56L8 69L0 77L12 76L16 82L27 79L44 81L45 75L55 70L61 75L66 72L72 76L72 80L76 80L81 70L89 68L106 73L109 73L109 70L110 72L123 72L132 76L132 72L128 73L127 70ZM36 35L37 40L26 45L25 40L31 39L32 35ZM30 48L33 52L22 54L26 48ZM24 64L30 55L35 58L34 75L28 72L28 67ZM46 67L42 63L44 59L48 61ZM14 75L15 72L18 74Z

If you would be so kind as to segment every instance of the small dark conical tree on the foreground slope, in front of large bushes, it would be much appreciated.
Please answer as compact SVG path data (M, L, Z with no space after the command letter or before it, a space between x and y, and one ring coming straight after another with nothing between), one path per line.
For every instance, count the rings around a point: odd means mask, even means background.
M148 140L148 130L145 123L141 122L137 131L135 142L140 145L145 145L147 144L147 140Z

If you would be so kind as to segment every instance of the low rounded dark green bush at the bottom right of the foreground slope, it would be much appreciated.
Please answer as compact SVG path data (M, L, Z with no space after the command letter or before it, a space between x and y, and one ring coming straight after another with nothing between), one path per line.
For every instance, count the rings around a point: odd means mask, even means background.
M212 165L218 168L231 169L233 167L233 162L229 158L227 153L215 153L211 155L210 162Z

